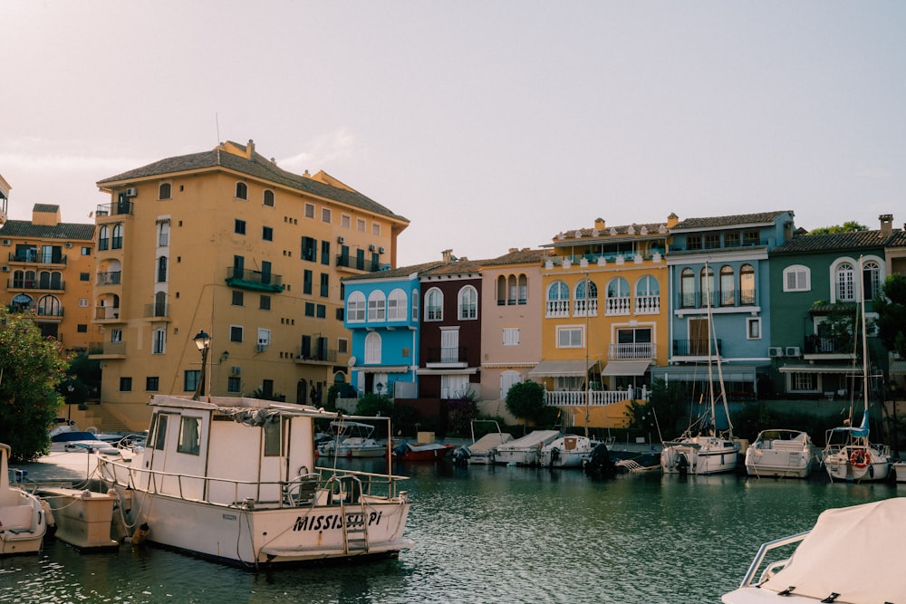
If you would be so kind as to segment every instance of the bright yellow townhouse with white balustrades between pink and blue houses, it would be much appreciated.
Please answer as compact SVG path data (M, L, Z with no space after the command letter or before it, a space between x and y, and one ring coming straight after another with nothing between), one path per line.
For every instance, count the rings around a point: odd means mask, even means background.
M576 229L554 237L542 272L544 359L529 377L575 427L623 427L668 359L668 222ZM568 422L567 422L568 425Z

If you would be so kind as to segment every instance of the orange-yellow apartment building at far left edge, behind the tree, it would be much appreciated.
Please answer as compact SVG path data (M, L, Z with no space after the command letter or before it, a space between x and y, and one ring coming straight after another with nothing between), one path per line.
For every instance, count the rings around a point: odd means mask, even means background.
M9 185L0 177L5 202ZM87 350L92 339L91 297L94 225L60 222L60 206L34 204L32 220L0 218L0 270L5 276L4 303L28 312L44 336L63 350Z

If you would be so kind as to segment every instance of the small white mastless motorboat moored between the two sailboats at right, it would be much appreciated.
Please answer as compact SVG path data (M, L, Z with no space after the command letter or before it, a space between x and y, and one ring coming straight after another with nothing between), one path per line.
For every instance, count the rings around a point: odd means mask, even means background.
M813 465L812 438L800 430L762 430L746 449L750 476L808 478Z

